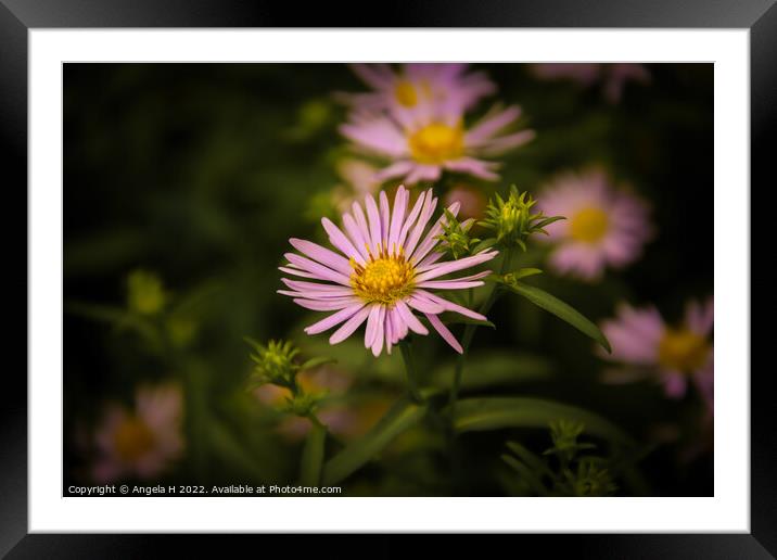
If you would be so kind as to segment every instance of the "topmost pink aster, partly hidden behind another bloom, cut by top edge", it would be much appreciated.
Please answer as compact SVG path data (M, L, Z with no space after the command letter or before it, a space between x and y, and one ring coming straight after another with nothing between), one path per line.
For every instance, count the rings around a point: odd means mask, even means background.
M347 94L359 112L412 112L429 105L464 111L493 93L496 87L481 72L468 72L467 64L354 64L352 68L373 91Z

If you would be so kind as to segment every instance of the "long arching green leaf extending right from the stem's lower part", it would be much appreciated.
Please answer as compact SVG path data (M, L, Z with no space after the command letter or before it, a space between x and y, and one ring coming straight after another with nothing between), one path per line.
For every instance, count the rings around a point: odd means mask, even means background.
M609 420L571 405L531 397L464 398L456 404L453 421L458 432L544 428L558 419L576 420L585 432L614 443L633 446L632 437Z

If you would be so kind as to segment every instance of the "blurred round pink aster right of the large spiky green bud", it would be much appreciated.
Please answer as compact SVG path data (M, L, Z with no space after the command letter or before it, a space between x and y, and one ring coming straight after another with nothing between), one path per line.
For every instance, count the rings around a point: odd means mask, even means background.
M556 245L551 267L584 280L598 279L608 265L633 263L651 236L647 204L613 188L599 169L559 177L545 189L538 207L548 216L566 217L546 228L546 240Z

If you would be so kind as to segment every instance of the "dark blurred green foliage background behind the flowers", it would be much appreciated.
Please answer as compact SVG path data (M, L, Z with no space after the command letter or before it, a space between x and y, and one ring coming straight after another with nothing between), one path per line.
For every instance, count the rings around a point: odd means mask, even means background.
M538 80L526 65L479 67L537 132L502 158L499 182L472 182L484 195L512 183L536 195L559 171L599 164L653 208L658 234L639 262L595 284L546 273L538 285L594 320L623 300L677 320L687 298L712 293L712 65L649 65L651 82L627 85L617 104L596 87ZM246 335L337 359L349 385L332 406L354 412L343 441L402 393L398 353L374 359L359 338L332 347L307 336L315 314L276 293L288 239L321 241L318 219L336 216L331 193L348 148L332 93L362 89L333 64L65 65L65 485L90 480L104 403L131 405L139 384L165 380L187 387L186 453L160 481L294 481L303 442L246 391ZM544 256L530 247L517 264ZM489 314L497 329L475 336L463 396L585 407L644 444L619 494L712 495L711 451L682 459L698 444L696 403L670 402L649 382L602 384L587 338L523 298L501 303ZM415 346L425 384L447 386L454 353L433 336ZM547 428L464 433L449 475L446 443L421 424L347 479L345 494L520 494L501 458L508 441L537 454L552 445Z

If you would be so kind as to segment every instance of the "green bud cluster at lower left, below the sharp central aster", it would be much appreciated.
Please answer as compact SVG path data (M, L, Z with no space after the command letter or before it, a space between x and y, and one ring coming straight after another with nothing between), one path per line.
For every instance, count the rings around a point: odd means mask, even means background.
M311 417L326 393L304 392L297 383L297 374L332 360L330 358L313 358L298 362L295 358L300 355L300 348L289 341L271 340L267 345L247 338L245 341L254 351L251 353L254 370L249 380L250 387L272 384L285 389L289 391L289 396L283 411L301 417Z

